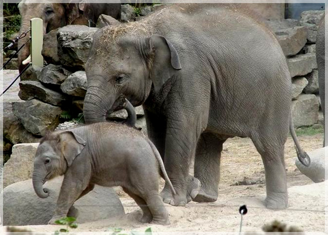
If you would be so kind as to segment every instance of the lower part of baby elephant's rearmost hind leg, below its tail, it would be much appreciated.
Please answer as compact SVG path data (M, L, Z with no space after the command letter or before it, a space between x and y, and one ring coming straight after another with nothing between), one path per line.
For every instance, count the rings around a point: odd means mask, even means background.
M152 214L152 224L169 225L168 212L158 192L147 195L145 201Z

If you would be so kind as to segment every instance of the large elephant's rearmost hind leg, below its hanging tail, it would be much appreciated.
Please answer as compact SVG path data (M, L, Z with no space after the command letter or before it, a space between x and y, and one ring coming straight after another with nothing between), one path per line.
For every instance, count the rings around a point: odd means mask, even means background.
M265 206L269 209L284 209L288 206L284 142L277 143L277 139L264 136L253 142L261 154L265 169Z

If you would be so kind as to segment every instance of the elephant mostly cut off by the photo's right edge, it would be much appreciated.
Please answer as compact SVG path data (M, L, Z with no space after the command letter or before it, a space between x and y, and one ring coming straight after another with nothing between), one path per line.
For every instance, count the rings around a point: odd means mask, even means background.
M324 114L324 88L325 88L325 76L324 76L324 62L325 62L325 49L324 49L324 34L325 34L325 27L324 27L324 16L321 19L321 23L319 25L319 29L317 32L317 40L316 40L316 56L317 56L317 64L318 64L318 73L319 73L319 94L321 100L321 109L323 113L323 120L325 120ZM324 138L323 140L323 147L328 145L328 140Z

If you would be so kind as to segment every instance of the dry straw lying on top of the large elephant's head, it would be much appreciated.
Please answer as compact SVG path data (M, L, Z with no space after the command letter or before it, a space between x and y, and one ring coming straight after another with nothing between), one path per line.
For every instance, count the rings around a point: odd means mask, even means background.
M103 43L111 43L117 40L120 36L128 34L129 36L149 36L153 29L148 24L142 22L129 22L122 25L113 25L103 28L101 41Z

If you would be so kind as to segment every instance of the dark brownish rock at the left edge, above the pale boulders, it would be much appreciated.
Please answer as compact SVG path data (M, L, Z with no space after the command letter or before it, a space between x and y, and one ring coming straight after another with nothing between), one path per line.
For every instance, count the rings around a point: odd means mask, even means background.
M28 132L12 111L11 103L3 103L3 112L0 112L0 125L3 126L3 137L12 144L34 143L39 138Z

